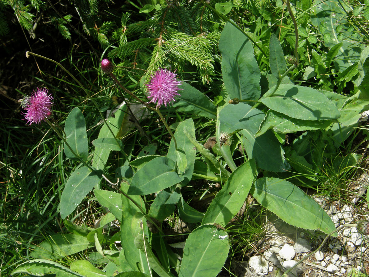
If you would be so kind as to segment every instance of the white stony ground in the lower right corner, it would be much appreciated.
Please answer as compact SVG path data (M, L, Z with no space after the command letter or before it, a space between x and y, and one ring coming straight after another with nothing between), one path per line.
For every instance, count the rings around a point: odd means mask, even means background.
M279 277L283 271L308 256L289 273L289 277L367 276L369 250L366 237L358 233L355 227L343 226L369 220L368 205L363 198L367 187L368 175L364 173L359 181L351 184L353 196L346 202L314 197L335 226L342 227L338 236L329 237L316 253L312 252L322 244L326 236L324 233L307 232L276 220L270 223L270 239L259 246L259 253L250 257L248 262L233 261L232 272L239 277Z

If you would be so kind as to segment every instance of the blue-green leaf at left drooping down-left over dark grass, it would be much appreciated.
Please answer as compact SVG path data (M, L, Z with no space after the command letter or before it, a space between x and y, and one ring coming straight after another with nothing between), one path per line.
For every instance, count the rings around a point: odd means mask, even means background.
M91 189L99 184L100 175L88 167L75 170L69 177L60 198L60 215L65 219L80 204Z

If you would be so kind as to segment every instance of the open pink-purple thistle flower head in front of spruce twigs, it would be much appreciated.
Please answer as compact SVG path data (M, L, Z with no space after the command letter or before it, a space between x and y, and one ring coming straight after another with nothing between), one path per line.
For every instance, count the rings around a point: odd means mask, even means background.
M151 102L156 103L156 107L171 103L174 100L178 90L179 85L182 84L181 81L177 81L177 74L170 72L168 69L159 68L154 75L151 75L150 82L146 85Z

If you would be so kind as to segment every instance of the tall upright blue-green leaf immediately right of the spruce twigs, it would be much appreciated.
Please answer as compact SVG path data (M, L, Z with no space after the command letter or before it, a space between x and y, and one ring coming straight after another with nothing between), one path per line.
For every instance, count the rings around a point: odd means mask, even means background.
M219 40L219 50L223 81L230 98L259 99L261 75L251 41L227 22Z

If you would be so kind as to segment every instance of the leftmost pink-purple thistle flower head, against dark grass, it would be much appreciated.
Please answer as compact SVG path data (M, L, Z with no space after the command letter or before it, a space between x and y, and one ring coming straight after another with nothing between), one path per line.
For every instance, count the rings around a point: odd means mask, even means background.
M46 88L37 88L37 91L33 91L27 106L24 108L27 110L27 113L24 114L24 119L27 120L28 124L39 123L51 116L52 99L54 98L48 95L48 91Z

